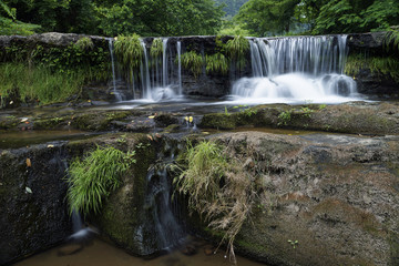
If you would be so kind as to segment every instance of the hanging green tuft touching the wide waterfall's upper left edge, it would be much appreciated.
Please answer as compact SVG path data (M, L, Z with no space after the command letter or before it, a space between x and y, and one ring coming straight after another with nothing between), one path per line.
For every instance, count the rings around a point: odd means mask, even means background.
M236 35L233 40L227 41L226 50L236 66L243 70L246 64L245 55L249 51L249 41L243 35Z

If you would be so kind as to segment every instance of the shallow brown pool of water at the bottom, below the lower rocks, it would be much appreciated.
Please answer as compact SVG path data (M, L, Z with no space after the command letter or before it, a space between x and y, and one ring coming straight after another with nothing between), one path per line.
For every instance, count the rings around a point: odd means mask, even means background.
M60 255L62 247L55 247L48 252L34 255L21 260L14 266L223 266L234 265L224 258L224 252L205 255L207 245L197 247L195 255L184 255L175 250L153 259L144 259L129 255L103 241L94 239L90 245L73 255ZM238 266L265 266L237 256Z

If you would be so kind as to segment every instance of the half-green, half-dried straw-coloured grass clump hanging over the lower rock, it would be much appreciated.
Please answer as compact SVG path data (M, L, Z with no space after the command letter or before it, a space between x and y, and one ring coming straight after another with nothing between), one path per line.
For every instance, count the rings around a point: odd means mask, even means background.
M223 231L221 244L227 241L227 250L235 263L234 239L254 204L253 176L236 158L228 157L225 146L214 142L188 145L186 166L174 180L176 190L188 196L188 204L215 231Z

